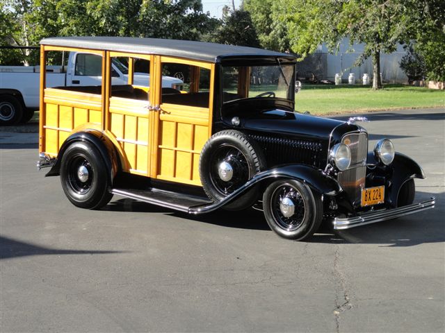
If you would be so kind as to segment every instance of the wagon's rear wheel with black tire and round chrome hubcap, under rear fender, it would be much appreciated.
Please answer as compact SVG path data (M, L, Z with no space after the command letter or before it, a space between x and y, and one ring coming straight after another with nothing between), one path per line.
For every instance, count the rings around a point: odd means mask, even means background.
M86 142L74 142L63 154L60 182L67 198L77 207L99 209L113 197L104 160L97 148Z

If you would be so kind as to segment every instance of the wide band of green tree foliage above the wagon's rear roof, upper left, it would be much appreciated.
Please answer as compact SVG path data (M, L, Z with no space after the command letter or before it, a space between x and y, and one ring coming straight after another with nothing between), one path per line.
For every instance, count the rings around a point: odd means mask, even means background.
M35 46L68 35L199 40L218 23L202 12L201 0L1 0L0 6L4 45ZM17 50L0 55L2 64L26 60L38 58Z

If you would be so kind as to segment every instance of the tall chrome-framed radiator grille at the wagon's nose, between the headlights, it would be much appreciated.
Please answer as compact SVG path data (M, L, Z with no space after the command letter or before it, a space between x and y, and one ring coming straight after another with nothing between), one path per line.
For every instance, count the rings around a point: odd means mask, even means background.
M339 173L338 181L350 200L359 203L366 179L368 135L366 133L351 133L345 135L341 142L349 146L351 162L350 169Z

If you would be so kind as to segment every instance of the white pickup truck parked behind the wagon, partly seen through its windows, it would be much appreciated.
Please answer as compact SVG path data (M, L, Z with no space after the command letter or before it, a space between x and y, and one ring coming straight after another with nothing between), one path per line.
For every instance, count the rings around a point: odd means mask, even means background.
M111 71L112 85L127 84L128 68L117 58L113 58ZM47 87L101 85L102 57L70 52L66 65L47 66L46 78ZM183 83L171 76L162 78L162 87ZM133 84L148 87L149 74L135 72ZM29 121L39 108L39 89L40 66L0 66L0 126Z

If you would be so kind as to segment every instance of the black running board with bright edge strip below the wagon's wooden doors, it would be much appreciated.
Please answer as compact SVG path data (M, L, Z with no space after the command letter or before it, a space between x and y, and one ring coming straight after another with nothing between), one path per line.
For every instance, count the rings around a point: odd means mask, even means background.
M161 189L112 189L112 194L124 196L144 203L151 203L172 210L190 213L192 207L202 207L212 205L213 202L209 198L191 196L177 192L163 191Z

